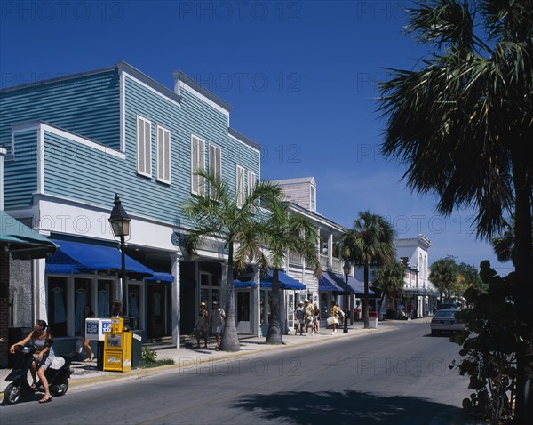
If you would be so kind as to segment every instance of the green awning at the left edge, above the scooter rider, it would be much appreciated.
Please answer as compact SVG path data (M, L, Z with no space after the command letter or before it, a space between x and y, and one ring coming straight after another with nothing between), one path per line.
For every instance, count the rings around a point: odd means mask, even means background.
M59 245L0 210L0 249L10 253L12 258L16 260L44 258L58 248Z

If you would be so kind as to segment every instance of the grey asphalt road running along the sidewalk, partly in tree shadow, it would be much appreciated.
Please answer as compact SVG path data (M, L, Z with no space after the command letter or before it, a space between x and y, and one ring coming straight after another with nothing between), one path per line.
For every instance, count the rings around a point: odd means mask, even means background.
M380 324L382 325L382 324ZM383 325L387 325L386 323ZM429 325L188 365L0 407L10 424L436 424L470 393L458 346ZM39 396L42 397L42 396ZM441 419L439 419L441 418Z

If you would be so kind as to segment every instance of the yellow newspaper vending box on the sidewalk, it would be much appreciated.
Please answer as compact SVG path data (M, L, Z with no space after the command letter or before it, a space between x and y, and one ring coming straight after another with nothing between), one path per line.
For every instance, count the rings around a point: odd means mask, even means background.
M111 332L106 333L103 369L105 371L131 371L131 332L122 332L123 318L111 319Z

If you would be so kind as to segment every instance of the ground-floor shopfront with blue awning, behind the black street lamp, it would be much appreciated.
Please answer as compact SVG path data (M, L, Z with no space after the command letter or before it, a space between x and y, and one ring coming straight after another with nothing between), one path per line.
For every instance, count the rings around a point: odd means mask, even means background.
M96 317L109 317L122 300L121 253L116 247L52 239L60 249L46 259L45 298L48 323L56 337L84 334L84 306ZM85 242L85 241L84 241ZM170 333L171 285L168 273L156 273L125 255L127 299L123 315L143 341Z

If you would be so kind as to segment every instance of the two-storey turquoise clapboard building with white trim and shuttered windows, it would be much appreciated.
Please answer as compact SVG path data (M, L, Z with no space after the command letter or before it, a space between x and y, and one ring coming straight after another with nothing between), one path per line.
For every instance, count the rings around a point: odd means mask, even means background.
M29 320L72 338L84 333L85 304L107 317L121 299L107 221L115 194L132 219L126 309L144 341L177 344L194 326L198 301L225 300L225 255L213 242L187 259L180 241L193 224L180 205L204 193L196 168L226 180L235 196L259 181L260 148L229 126L230 110L181 72L171 90L124 62L0 91L4 209L64 243L34 261ZM251 297L242 302L253 306ZM240 329L257 333L247 309Z

